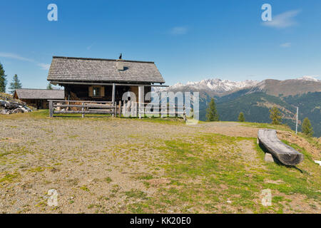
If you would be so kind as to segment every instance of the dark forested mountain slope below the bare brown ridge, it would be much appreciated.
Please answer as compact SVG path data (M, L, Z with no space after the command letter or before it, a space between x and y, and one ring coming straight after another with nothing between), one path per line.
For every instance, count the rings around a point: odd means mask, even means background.
M238 91L223 97L216 97L220 120L237 121L238 114L243 112L245 120L257 123L270 123L269 110L277 106L282 113L282 123L295 130L296 107L299 108L299 125L304 118L309 118L315 137L321 137L321 93L306 93L288 97L276 97L266 93L246 93L248 90ZM205 120L206 105L210 98L203 99L200 105L200 119Z

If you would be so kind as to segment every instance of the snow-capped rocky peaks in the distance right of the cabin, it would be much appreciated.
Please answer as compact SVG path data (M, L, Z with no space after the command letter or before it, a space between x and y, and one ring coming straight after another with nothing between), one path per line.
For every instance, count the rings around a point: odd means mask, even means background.
M195 91L210 91L210 93L223 94L232 90L252 87L258 84L258 81L246 80L246 81L230 81L230 80L221 80L219 78L215 79L205 79L197 82L188 82L186 84L176 83L173 86L165 90L171 91L186 91L186 90L195 90Z

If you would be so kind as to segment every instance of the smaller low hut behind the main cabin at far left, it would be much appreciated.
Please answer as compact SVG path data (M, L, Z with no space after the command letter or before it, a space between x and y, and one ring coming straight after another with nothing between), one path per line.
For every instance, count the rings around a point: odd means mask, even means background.
M48 109L48 100L63 100L63 90L44 90L36 88L19 88L14 91L14 98L36 109Z

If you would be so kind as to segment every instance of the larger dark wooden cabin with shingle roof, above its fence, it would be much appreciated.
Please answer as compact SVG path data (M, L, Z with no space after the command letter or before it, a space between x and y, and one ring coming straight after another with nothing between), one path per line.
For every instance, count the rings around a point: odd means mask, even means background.
M61 56L53 57L47 80L65 88L65 100L116 103L128 91L136 95L136 101L148 102L145 98L151 87L165 83L150 61Z

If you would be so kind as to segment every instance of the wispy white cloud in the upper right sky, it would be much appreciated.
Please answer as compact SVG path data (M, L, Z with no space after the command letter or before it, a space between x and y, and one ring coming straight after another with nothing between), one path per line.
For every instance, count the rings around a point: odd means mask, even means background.
M300 10L286 11L282 14L277 14L272 16L272 21L263 22L264 26L269 26L272 28L287 28L290 26L295 26L297 21L295 21L295 16L300 13Z

